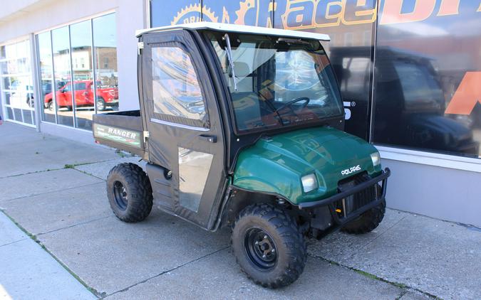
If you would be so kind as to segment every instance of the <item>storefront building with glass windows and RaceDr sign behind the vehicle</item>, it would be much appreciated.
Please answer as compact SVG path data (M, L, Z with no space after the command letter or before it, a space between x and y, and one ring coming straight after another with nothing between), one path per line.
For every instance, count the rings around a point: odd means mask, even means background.
M138 109L136 29L213 21L328 33L346 131L375 144L393 171L388 206L481 226L479 1L7 6L0 13L2 116L90 143L92 114Z

